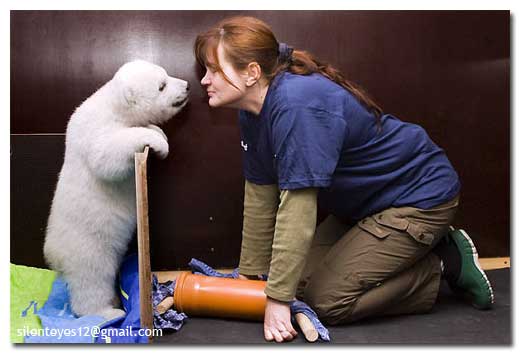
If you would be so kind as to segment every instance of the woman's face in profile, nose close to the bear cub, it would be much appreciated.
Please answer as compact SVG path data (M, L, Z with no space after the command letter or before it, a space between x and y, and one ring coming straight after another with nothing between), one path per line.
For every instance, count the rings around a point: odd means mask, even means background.
M229 82L224 79L222 73L211 71L211 69L206 67L206 74L200 83L206 87L206 91L208 92L208 104L213 108L230 107L240 109L240 102L246 92L245 78L247 77L247 73L238 72L233 68L231 63L227 60L221 45L217 48L217 55L222 71L224 71L226 76L236 87L229 84Z

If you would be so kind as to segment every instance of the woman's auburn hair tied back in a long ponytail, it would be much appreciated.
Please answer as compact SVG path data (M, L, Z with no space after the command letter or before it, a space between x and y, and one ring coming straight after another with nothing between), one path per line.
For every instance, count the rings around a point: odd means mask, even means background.
M319 61L304 50L294 50L289 61L281 62L278 55L279 43L265 22L249 16L226 18L207 32L199 34L195 40L194 51L199 65L219 72L228 83L236 87L220 66L217 55L219 44L235 70L244 70L249 63L257 62L269 83L282 71L298 75L320 73L356 97L375 115L379 124L383 110L361 87L347 80L338 69Z

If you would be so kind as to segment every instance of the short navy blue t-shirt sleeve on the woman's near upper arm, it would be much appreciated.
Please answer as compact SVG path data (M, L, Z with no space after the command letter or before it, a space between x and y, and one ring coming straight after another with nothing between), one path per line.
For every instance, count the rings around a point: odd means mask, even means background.
M284 108L273 114L272 145L280 189L330 186L346 128L342 117L312 107Z

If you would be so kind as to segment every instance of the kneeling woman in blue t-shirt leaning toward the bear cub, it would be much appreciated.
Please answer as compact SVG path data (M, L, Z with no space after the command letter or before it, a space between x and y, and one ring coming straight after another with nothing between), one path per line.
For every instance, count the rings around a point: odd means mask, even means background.
M471 239L449 232L459 178L424 129L383 114L338 70L252 17L200 34L195 53L209 105L239 109L239 268L243 278L268 274L265 339L296 335L295 296L328 324L427 312L441 273L490 307ZM330 215L316 228L318 204Z

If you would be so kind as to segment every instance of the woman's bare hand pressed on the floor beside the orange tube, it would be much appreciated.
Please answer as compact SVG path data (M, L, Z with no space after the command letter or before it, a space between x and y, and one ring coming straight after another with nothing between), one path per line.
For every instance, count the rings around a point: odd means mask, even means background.
M264 337L267 341L291 341L298 333L291 324L291 309L283 303L267 297L264 317Z

